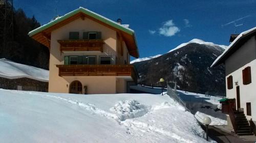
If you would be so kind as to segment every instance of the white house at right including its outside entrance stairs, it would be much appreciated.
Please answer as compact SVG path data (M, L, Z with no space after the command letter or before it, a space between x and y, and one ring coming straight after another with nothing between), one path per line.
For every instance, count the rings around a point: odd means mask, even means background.
M239 35L231 35L231 44L211 67L225 64L226 96L223 112L229 116L228 124L237 134L256 123L256 27ZM248 125L250 120L250 126ZM254 125L253 125L254 124Z

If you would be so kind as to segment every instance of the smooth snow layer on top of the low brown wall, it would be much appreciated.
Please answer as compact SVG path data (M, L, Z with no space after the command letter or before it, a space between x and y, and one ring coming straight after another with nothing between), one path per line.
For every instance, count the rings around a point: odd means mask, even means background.
M48 70L14 63L6 59L0 59L0 67L0 77L8 79L27 77L44 82L49 81Z

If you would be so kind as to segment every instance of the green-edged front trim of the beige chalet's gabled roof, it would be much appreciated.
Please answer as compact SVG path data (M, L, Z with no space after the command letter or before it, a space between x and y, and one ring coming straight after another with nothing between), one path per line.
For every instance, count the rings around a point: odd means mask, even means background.
M82 12L84 14L92 16L93 18L98 19L98 20L100 20L100 21L102 21L102 22L104 22L106 24L109 24L109 25L111 25L111 26L117 28L118 30L121 30L121 31L123 31L123 32L125 32L127 34L134 35L134 33L135 33L130 28L124 27L124 26L122 26L122 25L120 25L120 24L118 24L118 23L116 23L116 22L114 22L114 21L112 21L112 20L110 20L108 18L105 18L105 17L103 17L103 16L101 16L101 15L95 13L95 12L92 12L92 11L90 11L88 9L80 7L80 8L78 8L78 9L76 9L76 10L70 12L70 13L67 13L67 14L61 16L60 18L58 18L56 20L53 20L53 21L51 21L51 22L49 22L49 23L47 23L45 25L42 25L42 26L36 28L35 30L29 32L28 35L29 36L33 36L33 35L41 32L41 31L45 30L46 28L48 28L48 27L50 27L50 26L52 26L52 25L54 25L54 24L56 24L56 23L58 23L58 22L60 22L62 20L65 20L65 19L69 18L70 16L73 16L73 15L77 14L78 12Z

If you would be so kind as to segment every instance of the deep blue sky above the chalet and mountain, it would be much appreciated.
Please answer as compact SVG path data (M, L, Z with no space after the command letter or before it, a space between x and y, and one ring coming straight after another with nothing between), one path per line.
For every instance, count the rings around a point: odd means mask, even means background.
M163 54L197 38L228 45L229 36L256 26L256 0L243 1L151 1L151 0L14 0L28 17L41 23L84 7L135 30L140 58ZM241 26L235 26L240 25Z

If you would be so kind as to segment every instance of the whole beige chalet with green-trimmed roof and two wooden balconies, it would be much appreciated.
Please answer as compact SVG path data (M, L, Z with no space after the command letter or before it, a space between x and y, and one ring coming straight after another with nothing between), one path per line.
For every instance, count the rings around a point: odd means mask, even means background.
M126 93L137 82L130 56L139 57L135 32L85 8L42 25L29 36L50 49L49 92Z

